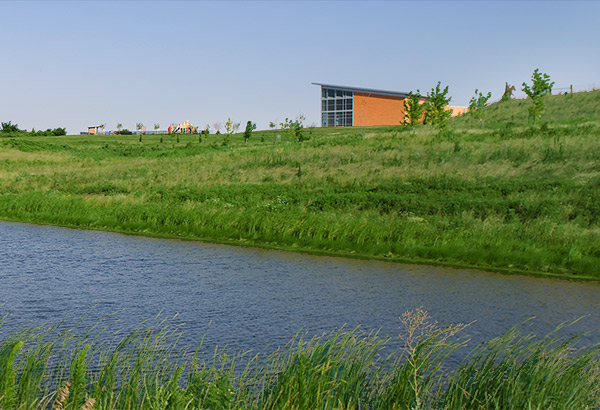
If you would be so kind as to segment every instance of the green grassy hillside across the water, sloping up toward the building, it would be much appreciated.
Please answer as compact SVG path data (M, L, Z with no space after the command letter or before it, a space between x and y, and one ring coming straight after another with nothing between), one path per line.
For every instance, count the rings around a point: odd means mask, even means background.
M514 100L444 137L397 126L227 146L218 135L0 139L0 218L598 279L600 92L547 107L541 129Z

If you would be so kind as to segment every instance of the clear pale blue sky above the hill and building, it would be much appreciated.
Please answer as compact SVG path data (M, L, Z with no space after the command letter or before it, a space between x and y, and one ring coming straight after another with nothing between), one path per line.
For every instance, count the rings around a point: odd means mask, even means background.
M597 1L0 1L0 121L320 124L323 82L499 99L600 87Z

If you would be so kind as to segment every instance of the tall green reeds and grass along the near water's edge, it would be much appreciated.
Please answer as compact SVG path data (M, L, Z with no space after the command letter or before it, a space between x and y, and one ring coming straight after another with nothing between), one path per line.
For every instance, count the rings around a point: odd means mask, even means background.
M600 408L600 348L575 348L560 329L536 339L516 327L448 370L465 326L440 328L422 310L402 324L403 347L388 356L389 339L342 329L264 357L217 350L209 360L201 346L180 350L164 322L103 342L93 330L24 329L0 341L0 408Z

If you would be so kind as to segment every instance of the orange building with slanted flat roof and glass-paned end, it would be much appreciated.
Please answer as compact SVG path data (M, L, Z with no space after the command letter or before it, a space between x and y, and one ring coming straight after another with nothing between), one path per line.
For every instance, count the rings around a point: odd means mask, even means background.
M321 126L399 125L404 121L407 92L313 83L321 86ZM422 97L425 100L425 97ZM452 116L468 108L449 106Z

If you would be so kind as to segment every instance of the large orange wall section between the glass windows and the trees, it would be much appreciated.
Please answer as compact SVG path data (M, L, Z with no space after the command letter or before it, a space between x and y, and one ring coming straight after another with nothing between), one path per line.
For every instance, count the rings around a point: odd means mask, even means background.
M400 125L404 120L404 98L354 93L355 126Z

